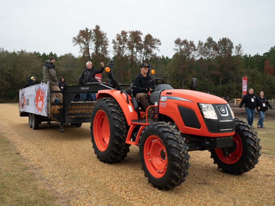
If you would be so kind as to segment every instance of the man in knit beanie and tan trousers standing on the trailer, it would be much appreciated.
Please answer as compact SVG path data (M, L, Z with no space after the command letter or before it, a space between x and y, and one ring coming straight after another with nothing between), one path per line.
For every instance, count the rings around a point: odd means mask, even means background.
M50 82L50 90L60 91L54 62L55 58L53 56L50 56L49 60L45 61L43 66L43 80L45 83ZM61 93L51 93L51 102L54 102L55 96L58 98L59 102L63 102L63 95Z

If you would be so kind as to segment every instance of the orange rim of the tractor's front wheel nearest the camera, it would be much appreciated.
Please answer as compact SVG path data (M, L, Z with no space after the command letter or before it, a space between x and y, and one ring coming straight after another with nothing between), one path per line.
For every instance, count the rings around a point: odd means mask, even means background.
M148 136L144 143L144 161L151 175L164 176L167 170L167 154L163 142L155 135Z

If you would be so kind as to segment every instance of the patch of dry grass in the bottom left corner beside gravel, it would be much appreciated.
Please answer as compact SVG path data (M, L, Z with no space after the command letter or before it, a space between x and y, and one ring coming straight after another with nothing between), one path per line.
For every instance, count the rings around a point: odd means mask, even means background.
M0 206L62 205L15 146L0 135Z

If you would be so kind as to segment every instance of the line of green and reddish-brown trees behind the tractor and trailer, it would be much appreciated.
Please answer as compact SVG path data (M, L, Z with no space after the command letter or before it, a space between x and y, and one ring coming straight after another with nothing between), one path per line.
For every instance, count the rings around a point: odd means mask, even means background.
M107 33L99 25L80 30L76 37L72 37L72 43L79 47L77 57L71 53L58 56L52 52L9 52L0 47L0 103L18 102L19 89L31 76L36 76L36 82L40 83L42 67L49 56L56 58L57 77L64 76L67 85L76 85L87 61L99 69L101 60L107 65L112 59L113 74L120 84L131 84L140 72L140 64L151 63L152 69L156 70L153 78L162 78L165 84L175 89L189 89L190 81L195 77L198 91L229 96L230 99L241 98L242 76L247 76L247 87L254 88L257 96L263 90L268 99L275 98L275 46L263 55L251 56L243 54L241 43L234 46L227 37L219 41L208 37L197 44L179 37L174 40L175 53L169 58L157 55L161 41L150 33L144 35L139 30L122 30L110 45ZM103 81L106 78L107 74L103 72Z

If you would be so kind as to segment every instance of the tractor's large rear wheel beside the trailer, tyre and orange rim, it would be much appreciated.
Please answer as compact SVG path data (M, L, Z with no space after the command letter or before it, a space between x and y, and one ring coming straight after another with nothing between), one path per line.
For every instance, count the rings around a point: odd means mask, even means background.
M126 136L129 126L121 107L113 98L100 98L91 116L91 141L95 154L104 163L119 162L129 152Z

